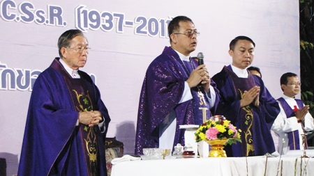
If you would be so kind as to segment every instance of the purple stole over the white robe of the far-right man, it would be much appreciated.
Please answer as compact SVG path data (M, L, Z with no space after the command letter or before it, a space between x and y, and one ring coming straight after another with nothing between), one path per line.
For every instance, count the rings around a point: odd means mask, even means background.
M281 106L283 106L283 111L285 111L285 115L287 115L287 118L291 118L291 117L295 116L295 112L289 106L289 104L287 104L287 102L285 102L285 99L283 99L283 97L280 97L277 100L279 102L281 102ZM301 99L294 99L294 100L297 102L299 108L304 107L304 104L303 104ZM300 150L299 131L298 130L290 131L287 134L288 134L288 138L289 138L288 145L289 145L290 150ZM308 149L307 143L305 143L305 147L306 147L306 149Z

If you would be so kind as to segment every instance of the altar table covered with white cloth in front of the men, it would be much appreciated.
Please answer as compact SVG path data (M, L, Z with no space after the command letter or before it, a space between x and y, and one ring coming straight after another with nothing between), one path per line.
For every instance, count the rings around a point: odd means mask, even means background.
M262 156L124 161L112 166L111 176L289 176L294 172L295 175L314 175L314 158Z

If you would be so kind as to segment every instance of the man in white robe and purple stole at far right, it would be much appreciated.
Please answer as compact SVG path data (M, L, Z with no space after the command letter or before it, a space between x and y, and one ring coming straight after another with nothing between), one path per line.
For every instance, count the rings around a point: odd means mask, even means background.
M304 150L308 148L306 131L313 131L313 117L308 113L309 106L304 105L295 95L300 92L301 83L297 74L287 72L281 76L281 90L283 96L277 101L281 112L271 129L279 136L279 154L286 154L289 150Z

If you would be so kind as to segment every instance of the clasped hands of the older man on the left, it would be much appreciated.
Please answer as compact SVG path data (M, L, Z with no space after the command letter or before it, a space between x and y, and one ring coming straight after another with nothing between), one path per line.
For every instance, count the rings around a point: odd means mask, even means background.
M101 115L100 111L83 111L83 112L80 112L80 115L78 118L80 123L84 125L89 125L89 127L98 125L102 119L103 119L103 115Z

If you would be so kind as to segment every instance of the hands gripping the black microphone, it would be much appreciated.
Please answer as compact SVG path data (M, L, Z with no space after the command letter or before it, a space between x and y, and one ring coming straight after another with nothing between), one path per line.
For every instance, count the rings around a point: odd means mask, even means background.
M209 86L211 83L211 77L209 77L209 73L207 71L206 65L199 65L198 67L190 73L190 77L186 80L188 86L193 88L197 86L199 83L202 83L204 90L209 93Z

